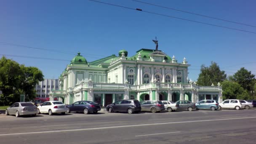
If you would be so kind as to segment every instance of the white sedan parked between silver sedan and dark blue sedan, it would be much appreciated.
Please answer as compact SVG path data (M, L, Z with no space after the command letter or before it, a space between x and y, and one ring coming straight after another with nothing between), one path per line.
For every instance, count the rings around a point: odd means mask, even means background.
M53 113L61 113L65 115L66 112L67 105L61 101L45 101L37 107L37 114L48 113L49 115L53 115Z

